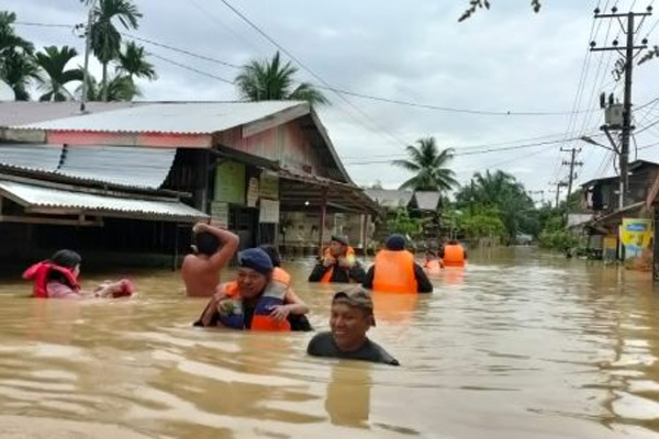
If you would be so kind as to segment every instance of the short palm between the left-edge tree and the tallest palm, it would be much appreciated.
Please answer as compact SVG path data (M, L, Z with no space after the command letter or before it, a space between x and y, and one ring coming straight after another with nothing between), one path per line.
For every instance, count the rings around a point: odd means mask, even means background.
M44 52L38 52L35 55L36 64L45 74L41 79L41 88L45 93L38 98L40 101L72 99L71 92L65 86L71 81L81 81L82 70L79 68L66 70L66 65L77 55L76 49L69 46L62 48L55 46L44 47Z

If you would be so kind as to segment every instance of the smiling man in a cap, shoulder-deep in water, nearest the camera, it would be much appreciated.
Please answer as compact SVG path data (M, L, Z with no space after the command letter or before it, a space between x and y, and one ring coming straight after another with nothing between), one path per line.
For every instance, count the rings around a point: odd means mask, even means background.
M331 331L313 337L306 352L314 357L400 365L395 358L366 336L371 326L376 326L376 319L370 294L361 286L338 292L332 300Z

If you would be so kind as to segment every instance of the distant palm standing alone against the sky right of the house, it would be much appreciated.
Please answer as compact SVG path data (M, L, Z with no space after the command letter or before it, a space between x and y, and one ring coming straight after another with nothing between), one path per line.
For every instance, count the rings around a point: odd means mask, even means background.
M400 189L414 191L448 191L456 187L455 172L446 166L453 159L453 148L438 150L434 137L420 138L418 146L409 145L405 150L410 160L393 160L392 164L414 172L415 176L401 184Z

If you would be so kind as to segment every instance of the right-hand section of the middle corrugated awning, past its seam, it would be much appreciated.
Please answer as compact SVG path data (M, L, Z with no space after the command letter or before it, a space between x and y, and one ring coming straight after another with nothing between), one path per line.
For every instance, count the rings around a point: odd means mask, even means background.
M139 189L158 189L167 178L176 148L67 146L57 173Z

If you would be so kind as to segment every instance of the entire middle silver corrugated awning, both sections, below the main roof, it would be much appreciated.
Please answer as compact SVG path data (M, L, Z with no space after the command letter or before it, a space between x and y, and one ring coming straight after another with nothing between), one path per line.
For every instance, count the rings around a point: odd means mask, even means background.
M126 189L159 189L176 148L0 144L0 166Z

